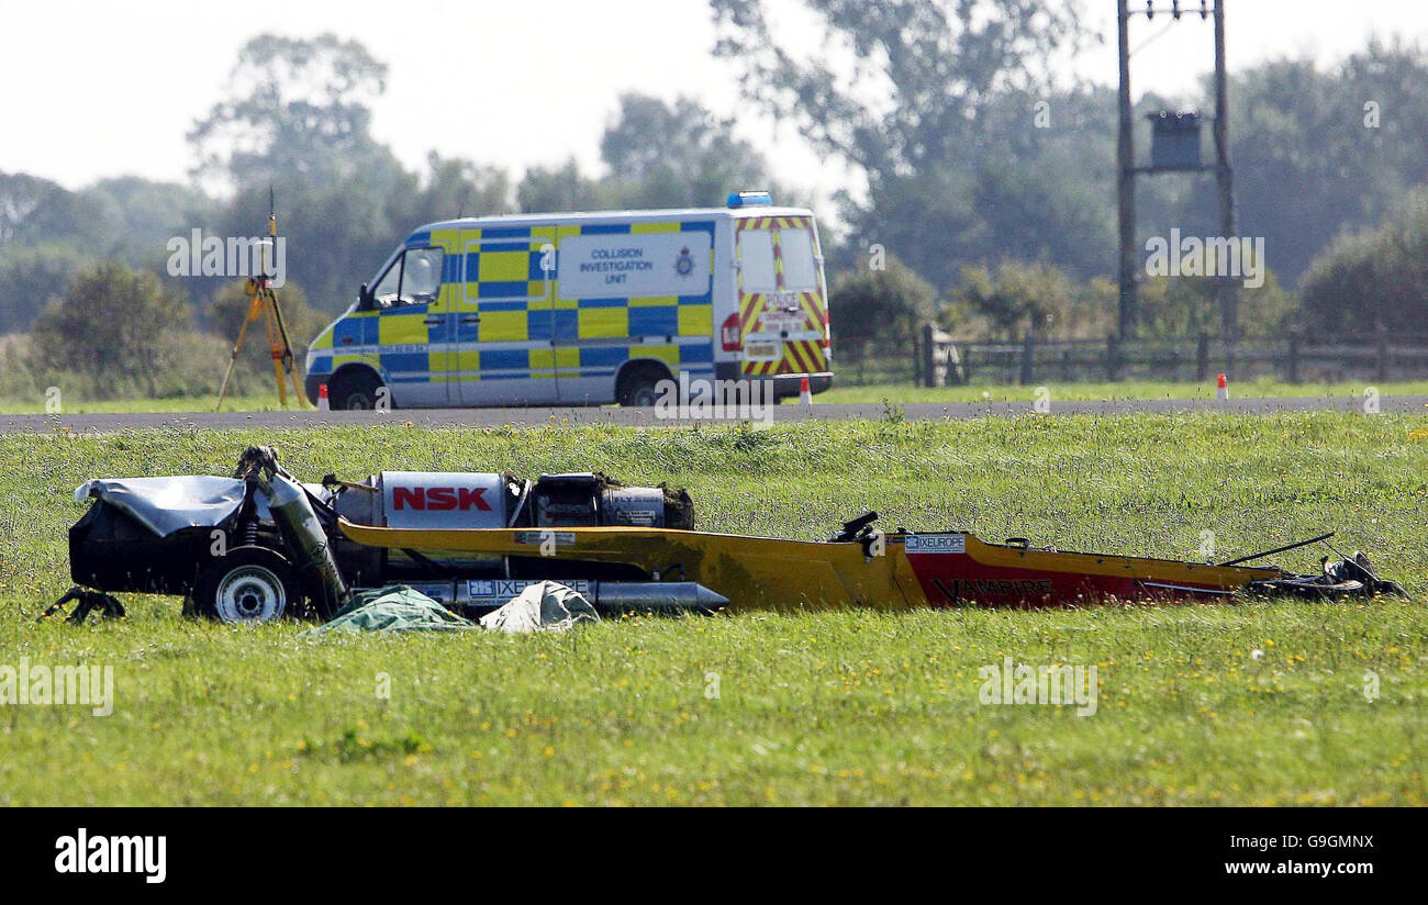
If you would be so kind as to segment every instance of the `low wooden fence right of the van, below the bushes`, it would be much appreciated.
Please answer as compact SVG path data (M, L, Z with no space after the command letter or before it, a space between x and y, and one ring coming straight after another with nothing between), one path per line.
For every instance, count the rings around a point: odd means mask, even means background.
M1208 334L1171 340L1037 340L958 343L927 325L905 344L841 348L834 331L834 385L1040 384L1070 381L1207 381L1272 375L1287 383L1428 380L1428 334L1307 335L1237 344Z

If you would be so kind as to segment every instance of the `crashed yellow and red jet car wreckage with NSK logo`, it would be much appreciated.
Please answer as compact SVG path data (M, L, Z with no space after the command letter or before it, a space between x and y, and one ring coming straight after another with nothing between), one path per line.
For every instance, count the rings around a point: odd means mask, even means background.
M1362 554L1325 557L1315 575L1247 564L1328 534L1218 565L988 544L965 531L884 534L874 512L827 541L744 537L695 531L690 495L667 485L413 471L311 485L271 447L250 447L233 478L93 480L76 491L90 497L70 528L83 587L61 598L86 612L111 611L109 594L127 591L181 594L227 622L326 620L357 588L404 584L478 617L545 580L601 614L1405 595Z

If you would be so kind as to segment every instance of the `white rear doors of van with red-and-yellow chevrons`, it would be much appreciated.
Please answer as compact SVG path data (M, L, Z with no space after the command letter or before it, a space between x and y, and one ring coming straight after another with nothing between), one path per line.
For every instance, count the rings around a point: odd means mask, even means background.
M737 253L743 373L827 371L827 290L813 218L741 218Z

